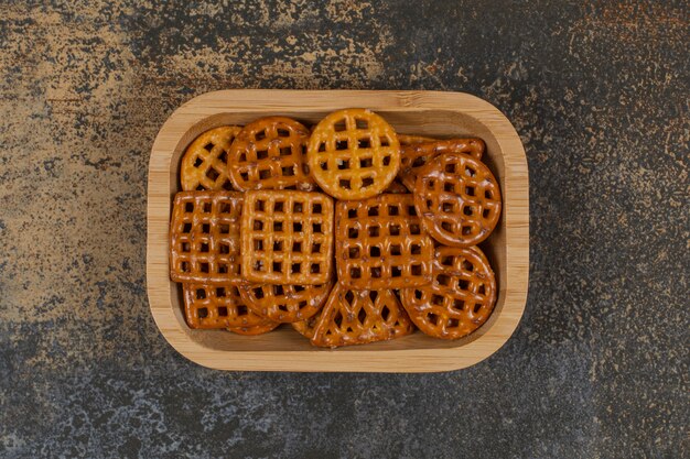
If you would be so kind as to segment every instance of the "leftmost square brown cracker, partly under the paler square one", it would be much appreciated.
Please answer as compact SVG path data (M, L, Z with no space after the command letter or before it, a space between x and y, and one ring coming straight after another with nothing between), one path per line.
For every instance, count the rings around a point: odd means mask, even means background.
M195 284L240 284L242 194L180 192L170 225L170 277Z

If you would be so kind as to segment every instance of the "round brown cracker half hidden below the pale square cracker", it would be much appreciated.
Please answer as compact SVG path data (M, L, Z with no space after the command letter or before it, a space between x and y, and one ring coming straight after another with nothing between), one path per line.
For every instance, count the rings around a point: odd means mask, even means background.
M279 323L305 320L321 310L333 283L322 285L248 284L241 297L256 314Z

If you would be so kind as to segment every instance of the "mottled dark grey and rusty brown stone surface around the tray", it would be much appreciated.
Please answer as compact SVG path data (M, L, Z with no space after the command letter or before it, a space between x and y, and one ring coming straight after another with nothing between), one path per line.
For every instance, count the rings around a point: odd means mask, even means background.
M686 2L51 3L0 4L1 457L688 457ZM513 120L531 277L498 353L260 374L164 341L151 143L258 87L462 90Z

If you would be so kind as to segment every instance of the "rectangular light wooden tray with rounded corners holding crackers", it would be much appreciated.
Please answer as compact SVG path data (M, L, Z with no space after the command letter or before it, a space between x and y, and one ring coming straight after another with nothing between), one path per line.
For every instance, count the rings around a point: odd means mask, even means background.
M200 133L282 114L315 123L326 113L365 107L398 132L438 136L475 135L504 198L498 228L482 244L496 271L494 313L464 339L432 339L420 331L387 342L319 349L289 326L245 337L225 330L192 330L182 315L181 288L170 281L168 238L171 201L185 147ZM496 352L525 309L529 273L529 182L520 139L494 106L462 92L379 90L223 90L198 96L163 124L149 164L147 287L151 313L165 339L187 359L219 370L431 372L462 369Z

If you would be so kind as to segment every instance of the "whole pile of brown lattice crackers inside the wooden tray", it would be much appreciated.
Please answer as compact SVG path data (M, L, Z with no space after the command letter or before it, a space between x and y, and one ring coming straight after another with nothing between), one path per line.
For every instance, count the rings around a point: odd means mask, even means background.
M180 167L170 276L191 328L290 324L335 348L470 335L494 309L477 247L502 212L481 139L397 134L367 109L312 130L268 117L202 133Z

